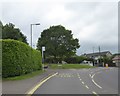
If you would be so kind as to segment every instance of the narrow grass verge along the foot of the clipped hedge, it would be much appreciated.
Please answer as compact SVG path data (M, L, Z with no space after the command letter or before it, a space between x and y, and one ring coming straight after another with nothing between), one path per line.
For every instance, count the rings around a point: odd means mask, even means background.
M8 77L8 78L2 78L3 81L7 81L7 80L23 80L23 79L28 79L28 78L31 78L31 77L34 77L34 76L37 76L37 75L40 75L42 74L43 70L38 70L38 71L34 71L32 73L28 73L28 74L25 74L25 75L21 75L21 76L15 76L15 77Z

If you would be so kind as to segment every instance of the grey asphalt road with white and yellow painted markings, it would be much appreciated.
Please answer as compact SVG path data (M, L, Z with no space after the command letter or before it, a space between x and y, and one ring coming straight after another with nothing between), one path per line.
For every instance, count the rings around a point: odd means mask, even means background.
M118 69L59 70L34 94L118 94Z

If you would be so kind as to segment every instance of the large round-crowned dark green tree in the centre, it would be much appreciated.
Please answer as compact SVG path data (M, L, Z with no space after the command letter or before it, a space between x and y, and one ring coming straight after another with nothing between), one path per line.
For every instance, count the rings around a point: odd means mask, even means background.
M47 57L57 58L70 57L76 53L76 49L80 47L79 40L73 38L71 30L58 25L45 29L38 39L37 49L41 50L45 46L45 55Z

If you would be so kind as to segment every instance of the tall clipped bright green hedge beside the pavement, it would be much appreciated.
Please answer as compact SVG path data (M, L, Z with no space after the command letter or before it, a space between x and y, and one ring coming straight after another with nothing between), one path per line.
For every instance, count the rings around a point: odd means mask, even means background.
M40 51L16 40L6 39L0 42L2 42L2 77L19 76L42 68Z

